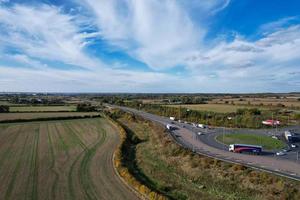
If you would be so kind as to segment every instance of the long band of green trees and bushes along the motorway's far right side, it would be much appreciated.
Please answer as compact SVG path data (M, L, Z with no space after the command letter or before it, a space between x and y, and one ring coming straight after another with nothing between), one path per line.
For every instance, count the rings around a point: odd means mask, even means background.
M143 104L141 101L121 102L122 106L141 109L156 115L170 117L183 121L202 123L211 126L237 127L237 128L262 128L263 120L270 118L270 113L262 112L257 108L238 109L233 113L216 113L210 111L190 110L184 107L168 107L159 104ZM274 115L276 116L276 115ZM276 118L285 121L282 116Z

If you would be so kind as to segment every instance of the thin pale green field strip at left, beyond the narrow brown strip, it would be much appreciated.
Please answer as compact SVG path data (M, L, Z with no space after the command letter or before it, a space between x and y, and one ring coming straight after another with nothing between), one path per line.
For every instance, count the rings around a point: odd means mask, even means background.
M76 111L76 106L10 106L9 112L62 112Z

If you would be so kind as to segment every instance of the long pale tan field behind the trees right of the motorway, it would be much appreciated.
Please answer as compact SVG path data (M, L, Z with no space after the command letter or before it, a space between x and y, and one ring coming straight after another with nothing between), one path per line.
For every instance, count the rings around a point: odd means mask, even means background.
M184 105L167 105L170 107L179 107L187 108L191 110L200 110L200 111L211 111L218 113L230 113L236 112L239 108L255 108L254 106L247 105L230 105L230 104L184 104ZM258 107L261 110L267 110L266 107Z

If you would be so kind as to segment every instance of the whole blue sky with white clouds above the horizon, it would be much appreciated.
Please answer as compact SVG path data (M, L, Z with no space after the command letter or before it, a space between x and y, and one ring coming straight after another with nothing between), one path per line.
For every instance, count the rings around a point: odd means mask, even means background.
M298 0L0 0L0 92L295 91Z

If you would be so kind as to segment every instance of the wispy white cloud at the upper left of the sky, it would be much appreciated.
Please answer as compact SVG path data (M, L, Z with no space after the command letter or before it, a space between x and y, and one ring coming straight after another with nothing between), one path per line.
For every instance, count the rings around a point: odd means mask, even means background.
M84 47L96 33L84 33L77 17L48 5L0 7L0 45L32 57L93 68L99 61L87 56Z

